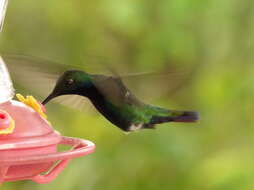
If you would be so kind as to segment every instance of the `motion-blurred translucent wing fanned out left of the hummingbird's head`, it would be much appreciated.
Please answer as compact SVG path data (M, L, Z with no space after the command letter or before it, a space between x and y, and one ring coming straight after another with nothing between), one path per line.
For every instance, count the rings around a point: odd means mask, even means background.
M46 96L56 79L65 70L64 65L36 60L33 57L4 55L4 61L17 88Z

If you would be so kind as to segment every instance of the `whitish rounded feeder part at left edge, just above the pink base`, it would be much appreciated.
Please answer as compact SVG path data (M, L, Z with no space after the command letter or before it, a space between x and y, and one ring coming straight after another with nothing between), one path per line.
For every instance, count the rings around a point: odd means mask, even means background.
M12 81L7 67L0 57L0 103L11 100L14 96Z

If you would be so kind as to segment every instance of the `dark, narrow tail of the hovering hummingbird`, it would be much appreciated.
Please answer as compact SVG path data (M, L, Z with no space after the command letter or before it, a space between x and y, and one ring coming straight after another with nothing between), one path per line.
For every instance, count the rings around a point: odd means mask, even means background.
M199 113L195 111L169 111L168 116L154 116L150 124L165 122L197 122Z

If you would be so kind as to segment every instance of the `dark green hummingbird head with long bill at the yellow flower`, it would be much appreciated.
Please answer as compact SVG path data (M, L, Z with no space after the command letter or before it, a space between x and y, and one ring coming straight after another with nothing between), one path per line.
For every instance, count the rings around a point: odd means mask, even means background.
M53 98L61 95L81 95L81 93L85 92L91 85L92 82L89 74L79 70L66 71L58 78L53 91L42 104L46 104Z

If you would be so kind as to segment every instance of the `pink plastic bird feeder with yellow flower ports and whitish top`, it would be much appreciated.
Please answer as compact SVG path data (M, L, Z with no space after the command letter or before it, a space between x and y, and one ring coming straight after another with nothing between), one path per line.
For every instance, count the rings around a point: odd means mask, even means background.
M78 138L61 136L46 119L43 108L32 96L12 100L13 88L0 57L0 183L32 180L48 183L73 158L94 151L95 145ZM59 152L58 145L69 151Z

